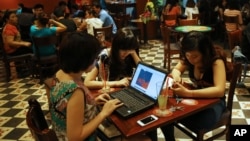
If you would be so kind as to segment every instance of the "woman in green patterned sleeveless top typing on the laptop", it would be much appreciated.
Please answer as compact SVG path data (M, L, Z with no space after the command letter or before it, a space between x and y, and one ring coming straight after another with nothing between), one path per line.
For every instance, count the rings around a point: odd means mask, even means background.
M60 46L60 70L49 83L52 127L59 140L95 141L98 125L122 105L108 94L93 97L81 80L82 73L94 67L100 50L98 40L87 33L71 33Z

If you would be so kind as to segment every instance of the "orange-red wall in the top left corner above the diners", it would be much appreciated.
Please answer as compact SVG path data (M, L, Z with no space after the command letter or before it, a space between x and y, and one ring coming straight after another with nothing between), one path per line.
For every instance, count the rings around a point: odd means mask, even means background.
M50 14L60 0L0 0L0 10L17 9L18 3L23 3L25 7L32 8L35 4L44 5L46 13Z

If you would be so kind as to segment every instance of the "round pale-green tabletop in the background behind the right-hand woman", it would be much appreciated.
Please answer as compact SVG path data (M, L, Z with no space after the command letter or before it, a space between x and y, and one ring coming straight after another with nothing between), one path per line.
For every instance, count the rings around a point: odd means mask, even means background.
M209 26L203 25L186 25L186 26L177 26L174 28L176 32L188 33L190 31L199 31L199 32L210 32L212 28Z

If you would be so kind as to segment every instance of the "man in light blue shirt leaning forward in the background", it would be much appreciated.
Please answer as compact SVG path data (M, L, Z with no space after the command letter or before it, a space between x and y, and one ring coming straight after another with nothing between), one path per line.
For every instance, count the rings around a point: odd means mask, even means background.
M99 2L96 2L96 1L93 2L93 10L99 15L99 18L103 21L104 27L113 25L112 32L113 32L113 34L116 34L117 27L116 27L116 24L115 24L113 18L109 15L109 13L106 10L101 8Z

